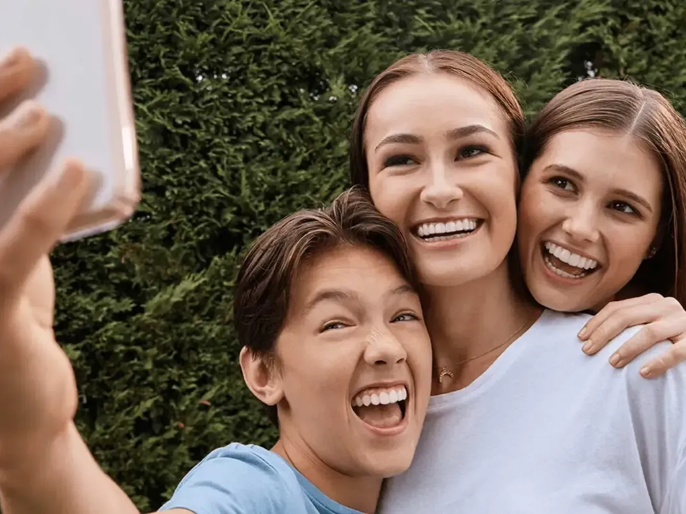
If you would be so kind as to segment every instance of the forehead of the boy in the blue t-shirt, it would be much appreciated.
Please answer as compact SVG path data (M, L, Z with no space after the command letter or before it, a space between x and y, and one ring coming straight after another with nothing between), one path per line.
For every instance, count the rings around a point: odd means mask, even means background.
M363 301L377 302L389 289L405 284L390 258L376 249L345 245L317 254L299 270L291 287L296 311L324 290L344 290Z

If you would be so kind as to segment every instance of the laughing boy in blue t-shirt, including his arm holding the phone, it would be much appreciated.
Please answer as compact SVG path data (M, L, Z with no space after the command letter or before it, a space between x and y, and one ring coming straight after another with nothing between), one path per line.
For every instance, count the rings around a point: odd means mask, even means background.
M27 85L34 66L23 51L0 63L0 101ZM47 114L21 109L0 120L4 164L45 136ZM21 117L26 110L33 124ZM0 229L6 514L138 512L75 428L73 370L52 330L47 254L87 189L83 167L70 162ZM431 344L417 289L403 236L360 191L297 212L258 238L237 277L234 319L244 378L269 406L279 442L211 452L163 511L374 512L383 478L412 461L429 400Z

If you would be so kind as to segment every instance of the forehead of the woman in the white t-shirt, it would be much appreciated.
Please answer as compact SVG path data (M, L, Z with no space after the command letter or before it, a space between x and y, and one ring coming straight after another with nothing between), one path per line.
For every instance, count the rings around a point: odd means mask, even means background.
M416 74L390 84L372 101L365 141L371 145L392 133L431 134L467 125L504 135L508 130L486 91L447 73Z

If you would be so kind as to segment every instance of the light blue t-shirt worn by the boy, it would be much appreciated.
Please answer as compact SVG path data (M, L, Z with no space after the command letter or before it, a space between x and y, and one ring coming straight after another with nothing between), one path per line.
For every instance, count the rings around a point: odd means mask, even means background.
M361 514L334 502L281 456L231 443L208 454L160 511L196 514Z

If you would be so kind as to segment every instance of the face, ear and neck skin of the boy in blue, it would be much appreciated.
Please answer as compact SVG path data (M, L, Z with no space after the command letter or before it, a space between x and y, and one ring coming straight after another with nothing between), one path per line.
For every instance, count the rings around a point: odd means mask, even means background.
M410 467L429 400L431 342L418 295L374 249L323 252L298 273L275 357L268 371L241 355L250 389L278 405L274 452L329 498L375 511L381 480ZM407 388L405 426L394 435L351 406L381 384Z

